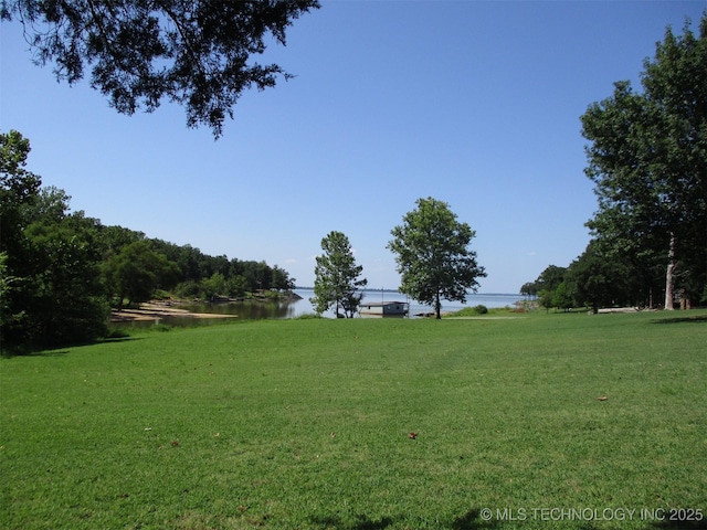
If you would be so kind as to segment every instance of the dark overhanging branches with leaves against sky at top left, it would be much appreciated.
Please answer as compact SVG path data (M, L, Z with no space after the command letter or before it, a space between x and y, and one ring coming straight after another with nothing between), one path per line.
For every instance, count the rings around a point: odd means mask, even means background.
M277 64L252 57L318 0L4 0L3 20L17 18L36 61L54 63L59 80L78 82L91 67L91 85L117 112L155 110L163 98L183 105L187 124L205 124L215 137L249 87L275 86L292 77Z

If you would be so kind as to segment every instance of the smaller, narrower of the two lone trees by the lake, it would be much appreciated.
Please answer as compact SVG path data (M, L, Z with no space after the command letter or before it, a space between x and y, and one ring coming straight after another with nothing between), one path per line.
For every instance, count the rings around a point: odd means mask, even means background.
M324 254L316 258L310 299L315 311L320 315L334 307L337 316L341 309L347 318L354 317L363 298L360 290L368 285L366 278L359 279L363 267L356 265L349 239L341 232L329 232L321 240L321 250Z

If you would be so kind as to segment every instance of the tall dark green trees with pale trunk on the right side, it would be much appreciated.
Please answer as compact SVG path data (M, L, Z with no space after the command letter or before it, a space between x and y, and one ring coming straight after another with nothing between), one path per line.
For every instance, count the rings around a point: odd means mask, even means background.
M641 84L581 117L599 209L582 255L523 286L546 307L707 305L707 13L666 29Z

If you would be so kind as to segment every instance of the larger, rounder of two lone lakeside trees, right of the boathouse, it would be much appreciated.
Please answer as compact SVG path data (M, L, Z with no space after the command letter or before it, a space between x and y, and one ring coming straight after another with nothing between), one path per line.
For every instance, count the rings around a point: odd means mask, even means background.
M457 221L447 203L428 198L416 204L391 231L388 248L397 255L400 292L433 305L441 318L442 298L466 301L468 292L478 287L476 279L486 273L468 247L476 233Z

